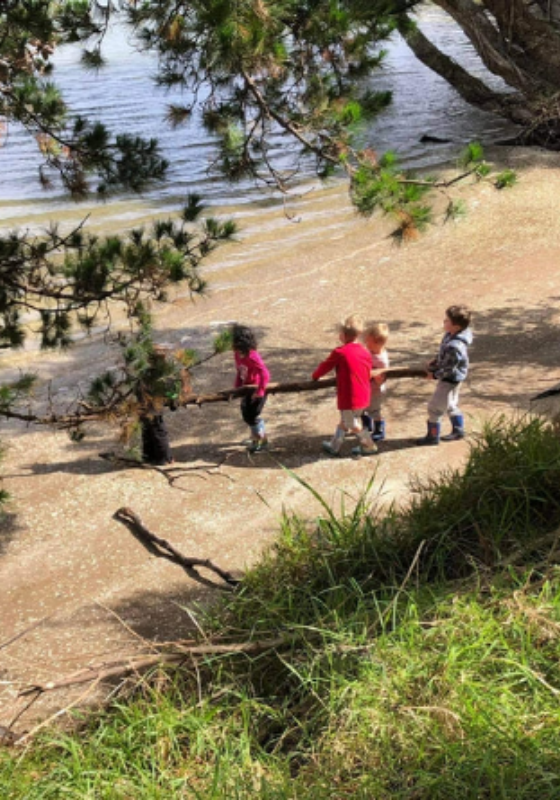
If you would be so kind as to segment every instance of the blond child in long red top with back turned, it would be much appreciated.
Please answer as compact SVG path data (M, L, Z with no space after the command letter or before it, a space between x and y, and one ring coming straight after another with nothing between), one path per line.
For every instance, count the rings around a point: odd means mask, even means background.
M335 348L311 376L316 381L331 370L336 371L336 397L340 421L331 441L323 442L323 450L331 456L340 455L347 432L356 434L359 440L359 447L355 448L353 453L372 455L377 452L377 446L372 442L370 432L364 430L361 419L369 406L372 369L370 353L358 342L363 328L361 317L356 314L348 317L339 328L341 347Z

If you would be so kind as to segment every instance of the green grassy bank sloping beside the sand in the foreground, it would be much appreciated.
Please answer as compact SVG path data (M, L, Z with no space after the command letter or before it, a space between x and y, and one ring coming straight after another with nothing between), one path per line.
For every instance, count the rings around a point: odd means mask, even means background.
M3 797L560 798L559 486L554 431L498 419L405 510L287 515L205 623L285 646L3 751Z

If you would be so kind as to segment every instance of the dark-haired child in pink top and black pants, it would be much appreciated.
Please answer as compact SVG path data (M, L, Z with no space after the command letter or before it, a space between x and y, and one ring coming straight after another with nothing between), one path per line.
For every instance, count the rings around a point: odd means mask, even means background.
M260 453L268 447L261 412L266 402L265 390L270 380L270 373L260 353L257 352L257 340L251 328L246 325L234 325L231 333L236 368L235 388L255 386L255 390L241 400L241 415L251 429L248 450L251 453Z

